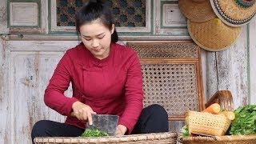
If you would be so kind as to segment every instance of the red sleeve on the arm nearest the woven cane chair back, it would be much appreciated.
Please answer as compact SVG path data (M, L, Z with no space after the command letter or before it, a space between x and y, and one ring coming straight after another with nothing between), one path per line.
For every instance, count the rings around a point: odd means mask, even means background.
M133 54L130 62L132 64L128 68L125 85L126 107L119 120L119 124L127 127L128 134L133 130L143 107L142 70L138 56Z

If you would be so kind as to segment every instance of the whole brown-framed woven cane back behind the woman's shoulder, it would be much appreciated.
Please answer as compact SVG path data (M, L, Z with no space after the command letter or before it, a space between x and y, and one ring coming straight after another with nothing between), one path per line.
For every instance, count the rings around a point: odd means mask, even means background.
M202 110L199 47L194 42L127 42L142 64L144 106L164 106L169 118L182 120L186 110Z

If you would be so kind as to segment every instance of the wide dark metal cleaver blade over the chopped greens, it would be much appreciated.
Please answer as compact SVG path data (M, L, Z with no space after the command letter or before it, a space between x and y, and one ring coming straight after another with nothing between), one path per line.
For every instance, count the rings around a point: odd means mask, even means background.
M89 125L89 122L86 123L86 129L92 130L102 130L109 134L110 136L115 135L115 130L118 126L118 115L111 114L91 114L93 124Z

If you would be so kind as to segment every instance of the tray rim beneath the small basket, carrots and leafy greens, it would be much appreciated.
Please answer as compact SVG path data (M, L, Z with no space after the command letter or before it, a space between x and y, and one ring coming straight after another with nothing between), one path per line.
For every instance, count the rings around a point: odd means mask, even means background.
M178 138L178 142L184 144L194 143L209 143L209 144L255 144L256 134L252 135L226 135L226 136L214 136L214 137L189 137Z

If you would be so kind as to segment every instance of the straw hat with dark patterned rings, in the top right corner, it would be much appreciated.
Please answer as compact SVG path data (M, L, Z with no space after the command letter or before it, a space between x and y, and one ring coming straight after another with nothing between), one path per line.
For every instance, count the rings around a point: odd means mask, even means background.
M256 13L255 0L210 0L214 13L229 26L242 26Z

